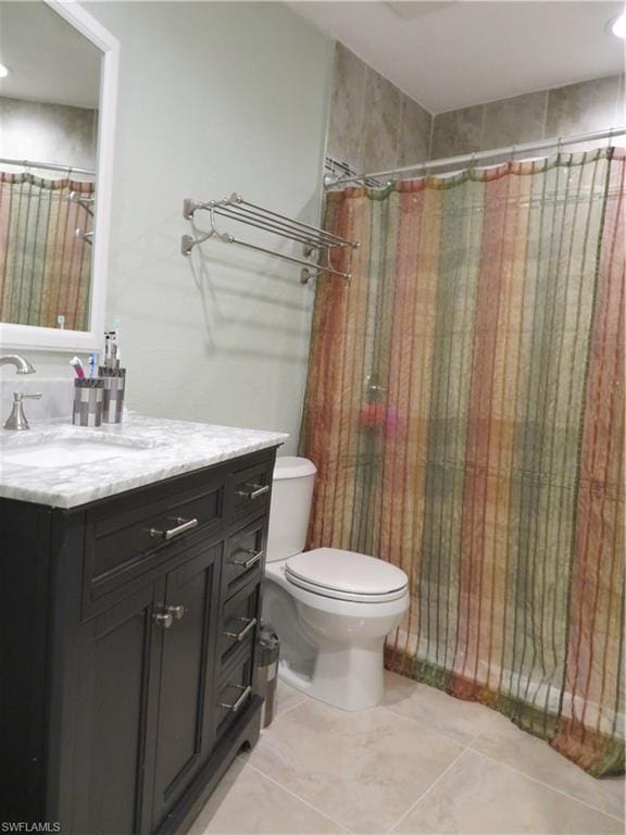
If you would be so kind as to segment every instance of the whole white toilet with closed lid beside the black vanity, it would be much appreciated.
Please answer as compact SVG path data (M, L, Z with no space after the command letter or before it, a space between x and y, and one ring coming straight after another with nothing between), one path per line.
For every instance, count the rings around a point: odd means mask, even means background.
M278 676L316 699L362 710L384 693L383 649L409 607L406 574L336 548L304 551L315 465L276 459L263 620L280 639Z

